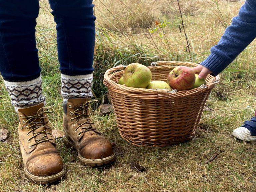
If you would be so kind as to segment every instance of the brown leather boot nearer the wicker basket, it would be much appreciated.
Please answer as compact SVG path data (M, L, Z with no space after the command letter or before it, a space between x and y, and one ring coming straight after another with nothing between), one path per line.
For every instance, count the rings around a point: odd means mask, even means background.
M96 130L89 113L89 98L68 99L63 104L64 142L77 150L88 166L102 166L115 160L110 142Z

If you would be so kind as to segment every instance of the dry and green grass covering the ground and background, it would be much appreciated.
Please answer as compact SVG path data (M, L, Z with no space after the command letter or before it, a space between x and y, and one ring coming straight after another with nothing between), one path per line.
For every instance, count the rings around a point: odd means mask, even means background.
M95 0L97 33L93 93L108 103L104 72L115 65L157 60L189 61L175 0ZM192 61L201 62L223 34L241 3L214 0L182 0L181 11L192 48ZM55 109L50 120L61 130L62 98L56 50L56 31L46 1L41 1L37 20L37 43L47 105ZM159 27L158 21L164 24ZM156 30L157 29L157 30ZM149 32L151 31L151 33ZM153 32L152 32L153 31ZM256 184L255 143L233 138L232 130L254 113L256 96L255 42L221 74L207 110L192 141L164 148L131 146L118 133L115 116L98 114L98 129L115 143L116 163L109 168L82 166L77 154L57 140L57 148L68 168L66 177L53 185L37 185L24 176L18 144L17 118L0 80L0 127L8 138L0 143L0 191L254 191ZM221 98L218 93L226 95ZM219 154L210 163L205 163ZM146 167L130 169L131 161Z

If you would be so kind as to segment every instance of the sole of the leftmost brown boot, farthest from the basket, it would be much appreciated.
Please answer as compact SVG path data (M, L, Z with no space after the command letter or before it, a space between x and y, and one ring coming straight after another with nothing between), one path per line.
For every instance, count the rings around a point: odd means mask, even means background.
M33 181L34 183L37 184L50 184L50 183L54 183L56 181L59 181L62 179L62 177L66 174L67 170L66 167L63 167L63 170L55 175L51 175L51 176L46 176L46 177L42 177L42 176L35 176L31 173L28 172L28 170L25 168L24 166L24 171L25 171L25 175L26 177Z

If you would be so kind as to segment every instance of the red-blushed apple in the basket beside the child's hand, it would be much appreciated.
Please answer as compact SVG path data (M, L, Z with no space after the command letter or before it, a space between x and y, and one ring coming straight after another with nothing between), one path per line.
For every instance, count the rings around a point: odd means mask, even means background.
M172 89L182 91L193 87L196 76L191 68L178 66L169 73L167 80Z

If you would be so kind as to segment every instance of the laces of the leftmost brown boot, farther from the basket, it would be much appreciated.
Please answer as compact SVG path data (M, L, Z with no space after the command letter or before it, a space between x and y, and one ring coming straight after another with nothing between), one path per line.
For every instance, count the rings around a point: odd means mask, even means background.
M46 110L48 110L48 111L46 111ZM25 120L22 121L23 124L22 124L21 129L24 129L26 127L26 129L29 130L31 128L30 131L27 132L27 136L29 136L30 133L32 133L32 135L33 135L27 141L30 142L31 139L35 138L35 144L29 145L30 149L34 145L38 145L39 143L53 140L52 138L47 139L47 133L51 134L51 132L47 132L47 129L51 130L51 128L47 125L49 122L44 121L44 119L46 119L47 116L43 115L44 113L52 113L53 111L54 111L54 109L51 107L42 107L37 111L36 115L31 115L31 116L21 116L20 115L21 118L27 119L26 121ZM45 130L36 131L39 127L43 127L43 128L45 128ZM36 139L36 136L38 136L40 134L44 134L44 136L39 139L38 138Z

